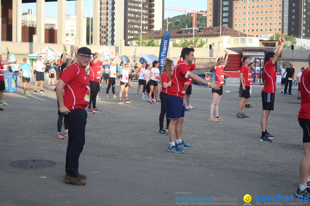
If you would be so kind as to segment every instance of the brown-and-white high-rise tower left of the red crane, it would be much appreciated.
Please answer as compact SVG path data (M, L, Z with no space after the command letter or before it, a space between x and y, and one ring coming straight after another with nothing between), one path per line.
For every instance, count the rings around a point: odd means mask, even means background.
M125 40L129 46L132 37L159 30L164 25L164 0L101 0L100 6L100 44L103 45L119 46L120 40Z

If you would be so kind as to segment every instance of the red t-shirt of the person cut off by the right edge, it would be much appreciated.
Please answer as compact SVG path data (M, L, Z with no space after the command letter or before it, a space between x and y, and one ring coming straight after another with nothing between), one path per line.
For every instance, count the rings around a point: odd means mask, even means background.
M300 110L298 117L302 119L310 119L310 69L303 71L299 82L300 87Z

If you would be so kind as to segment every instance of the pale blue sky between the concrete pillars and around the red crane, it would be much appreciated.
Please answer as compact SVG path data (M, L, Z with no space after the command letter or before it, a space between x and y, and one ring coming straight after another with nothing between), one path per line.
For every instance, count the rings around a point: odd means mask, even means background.
M180 2L184 2L184 4L180 4ZM195 2L195 10L196 11L206 11L207 3L206 0L165 0L165 6L169 7L179 7L179 8L187 8L194 9ZM91 5L90 5L91 3ZM75 1L67 1L67 15L75 14ZM22 12L28 12L28 9L33 8L34 13L36 14L36 3L23 3L22 4ZM48 9L53 8L53 9ZM90 11L91 8L91 11ZM164 18L167 18L167 10L164 10ZM84 0L84 17L89 17L93 13L93 0ZM174 17L177 15L183 15L184 12L179 11L168 11L169 17ZM45 16L57 16L57 2L45 2Z

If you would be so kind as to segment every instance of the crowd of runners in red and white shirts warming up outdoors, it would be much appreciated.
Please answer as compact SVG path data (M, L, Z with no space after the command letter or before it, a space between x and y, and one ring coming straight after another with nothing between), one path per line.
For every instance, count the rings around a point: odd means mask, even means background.
M270 143L275 136L267 132L267 120L270 111L274 109L274 100L276 93L276 72L275 63L279 57L283 44L284 35L279 38L279 46L274 52L265 54L266 63L263 67L264 86L261 92L263 111L261 116L262 134L259 141ZM131 58L128 61L122 58L119 62L118 53L111 55L112 58L102 61L104 53L91 53L86 47L74 47L70 55L67 55L65 45L60 59L47 61L48 50L43 59L41 50L36 61L32 65L24 63L19 65L16 62L9 61L9 49L7 48L7 59L2 61L0 56L0 105L8 105L3 101L3 65L14 64L12 69L19 73L23 82L24 95L29 95L30 80L35 80L33 93L37 94L37 87L40 83L40 93L46 93L43 90L43 81L48 80L49 87L55 87L58 104L57 134L58 139L64 139L69 136L66 156L66 174L65 181L74 185L84 185L85 175L78 173L78 158L85 144L85 125L87 113L94 114L101 111L96 107L96 100L102 99L98 96L100 84L102 89L106 84L106 99L109 97L109 91L112 87L113 99L118 99L119 104L131 103L128 98L128 90L131 88L131 81L137 80L138 87L136 96L140 96L142 90L142 100L147 100L147 104L161 104L159 114L159 134L169 135L169 144L167 151L173 153L183 153L184 149L190 149L191 145L185 144L182 140L182 125L184 122L185 111L193 109L190 105L190 95L192 92L192 81L205 84L212 88L212 103L210 105L209 122L225 121L219 114L219 103L223 95L224 86L224 67L227 64L228 52L225 51L225 57L221 58L217 53L215 62L205 64L195 64L194 48L183 48L180 60L177 64L166 58L162 67L159 69L159 62L153 61L150 64L143 62L141 67L137 64L132 65ZM309 55L310 64L310 55ZM45 62L45 63L44 63ZM253 63L249 57L242 58L243 65L240 68L240 102L237 110L237 118L248 118L244 113L245 108L252 108L249 103L251 85L253 82ZM209 75L206 78L200 78L192 73L193 70L213 68L215 73L215 82L211 82ZM281 93L291 94L292 80L294 79L293 62L290 67L280 64L282 75ZM300 163L300 184L296 191L296 196L310 197L310 73L309 68L302 68L296 79L299 85L298 99L301 99L301 109L298 120L303 128L303 148L304 155ZM36 76L36 79L34 77ZM50 81L51 80L51 81ZM52 85L50 84L52 82ZM115 86L120 85L119 93L116 93ZM285 88L283 90L283 86ZM141 88L142 87L142 88ZM159 96L158 96L159 92ZM125 99L122 100L123 93ZM118 94L118 97L117 97ZM300 98L301 95L301 98ZM186 100L186 106L185 106ZM85 110L85 107L88 107ZM0 110L3 110L0 108ZM214 116L215 114L215 116ZM166 127L164 119L166 116ZM63 123L64 121L64 123ZM64 127L64 133L61 128ZM308 188L309 187L309 188Z

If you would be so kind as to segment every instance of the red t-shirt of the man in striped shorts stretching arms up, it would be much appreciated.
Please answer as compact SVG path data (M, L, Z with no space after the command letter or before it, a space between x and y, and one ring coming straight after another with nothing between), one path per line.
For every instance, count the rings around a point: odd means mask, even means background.
M277 76L276 70L274 69L274 64L272 64L271 60L264 65L263 75L265 84L262 91L267 93L276 93Z

